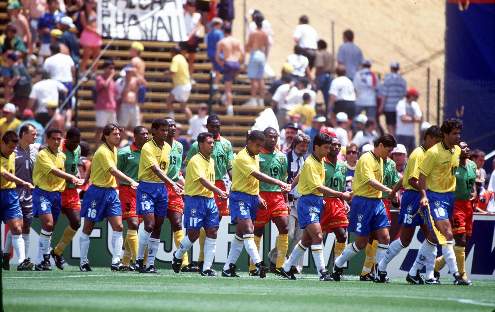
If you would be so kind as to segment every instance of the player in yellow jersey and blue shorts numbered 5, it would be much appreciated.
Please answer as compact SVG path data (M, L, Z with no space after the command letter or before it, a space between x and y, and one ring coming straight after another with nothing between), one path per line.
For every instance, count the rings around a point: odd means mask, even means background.
M281 180L271 178L259 171L258 154L263 149L265 135L254 130L247 137L246 148L242 149L234 160L232 186L229 194L230 220L236 224L236 234L230 245L230 252L222 270L222 276L236 277L236 261L246 247L249 257L258 269L259 277L266 277L269 267L261 262L254 243L253 222L256 220L259 203L259 182L275 184L283 193L291 190L291 186ZM266 210L266 206L259 208Z

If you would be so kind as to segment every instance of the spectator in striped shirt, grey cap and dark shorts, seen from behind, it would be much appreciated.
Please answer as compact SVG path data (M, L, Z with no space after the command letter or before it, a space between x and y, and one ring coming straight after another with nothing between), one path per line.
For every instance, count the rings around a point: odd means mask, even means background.
M382 101L378 106L378 115L385 114L387 129L390 134L396 135L396 106L407 92L404 78L398 73L399 62L390 62L390 74L385 76L382 86Z

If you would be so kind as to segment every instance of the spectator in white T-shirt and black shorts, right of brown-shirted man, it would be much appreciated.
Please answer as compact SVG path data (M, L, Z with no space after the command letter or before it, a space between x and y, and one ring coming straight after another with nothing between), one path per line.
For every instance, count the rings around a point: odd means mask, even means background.
M331 122L335 125L335 116L344 112L347 118L354 118L356 111L356 93L352 81L346 76L346 67L342 64L337 66L337 78L330 84L330 102L328 107L333 107Z

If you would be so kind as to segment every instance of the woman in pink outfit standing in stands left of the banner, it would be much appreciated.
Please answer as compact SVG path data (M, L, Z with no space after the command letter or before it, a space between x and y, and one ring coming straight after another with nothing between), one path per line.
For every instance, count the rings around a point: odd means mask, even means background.
M79 18L84 29L81 32L80 44L83 46L83 60L81 61L81 74L84 75L86 67L88 66L88 60L90 54L93 53L93 62L96 61L101 45L101 35L97 29L97 7L98 0L84 0L84 5L79 13ZM92 76L96 77L96 70L98 69L98 63L93 67ZM91 78L94 78L91 77ZM86 80L86 79L85 79Z

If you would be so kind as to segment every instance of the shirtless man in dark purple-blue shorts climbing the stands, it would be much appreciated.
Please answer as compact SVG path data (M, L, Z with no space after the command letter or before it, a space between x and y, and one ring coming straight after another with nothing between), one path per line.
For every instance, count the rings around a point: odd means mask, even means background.
M225 38L217 43L215 61L223 66L223 83L225 85L225 98L227 102L227 116L234 115L232 106L232 82L241 72L241 62L244 60L245 52L241 41L232 37L232 25L223 27ZM223 60L220 53L223 52Z

